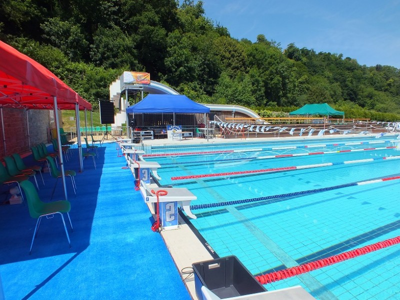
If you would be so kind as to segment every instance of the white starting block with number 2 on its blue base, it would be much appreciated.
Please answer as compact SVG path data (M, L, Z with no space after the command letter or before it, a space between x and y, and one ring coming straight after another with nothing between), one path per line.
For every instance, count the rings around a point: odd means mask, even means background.
M196 200L197 197L184 187L150 187L143 180L140 180L140 194L145 203L156 203L157 196L151 190L166 190L167 194L159 196L159 217L161 219L161 226L164 230L175 229L178 226L178 210L179 204L187 216L195 219L197 218L190 211L190 201Z

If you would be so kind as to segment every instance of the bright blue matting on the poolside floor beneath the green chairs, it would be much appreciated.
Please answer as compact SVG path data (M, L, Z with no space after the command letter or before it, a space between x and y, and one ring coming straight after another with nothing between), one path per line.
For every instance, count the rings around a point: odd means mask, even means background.
M52 150L52 147L48 147ZM69 248L59 215L43 218L32 254L36 219L27 205L0 205L0 275L5 299L190 299L161 236L151 231L151 214L115 143L98 147L97 169L91 158L78 172L77 150L64 162L77 171L76 196L66 177L73 232ZM31 156L26 164L37 164ZM55 179L37 175L43 201ZM7 191L9 186L2 186ZM6 193L0 195L0 202ZM63 199L58 180L53 200ZM67 221L67 219L66 219Z

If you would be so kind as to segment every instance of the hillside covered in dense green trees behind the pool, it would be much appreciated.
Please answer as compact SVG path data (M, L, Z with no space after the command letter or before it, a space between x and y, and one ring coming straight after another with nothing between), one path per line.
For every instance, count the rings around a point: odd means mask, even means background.
M2 0L0 39L94 105L135 70L203 103L288 111L327 102L347 117L400 119L399 69L262 34L237 40L206 15L192 0Z

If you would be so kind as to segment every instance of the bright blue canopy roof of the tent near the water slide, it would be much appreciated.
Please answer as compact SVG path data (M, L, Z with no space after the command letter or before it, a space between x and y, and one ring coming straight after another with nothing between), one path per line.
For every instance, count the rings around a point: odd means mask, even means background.
M126 108L127 113L204 113L209 108L185 95L148 94L140 102Z

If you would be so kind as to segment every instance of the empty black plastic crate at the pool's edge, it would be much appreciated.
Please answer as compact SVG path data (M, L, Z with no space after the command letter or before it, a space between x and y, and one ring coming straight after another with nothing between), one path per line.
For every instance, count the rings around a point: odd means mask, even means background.
M193 263L192 266L199 300L203 300L203 285L221 299L266 291L234 255Z

